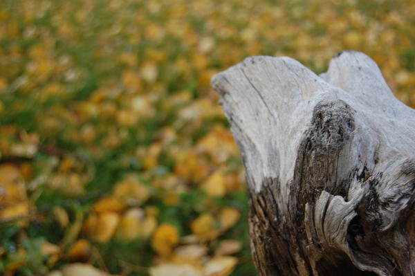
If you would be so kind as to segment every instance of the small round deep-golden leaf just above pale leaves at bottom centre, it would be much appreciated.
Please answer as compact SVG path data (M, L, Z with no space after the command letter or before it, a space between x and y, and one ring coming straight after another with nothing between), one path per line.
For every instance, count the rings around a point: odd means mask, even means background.
M158 226L151 239L151 246L159 255L169 255L177 243L178 230L168 223Z

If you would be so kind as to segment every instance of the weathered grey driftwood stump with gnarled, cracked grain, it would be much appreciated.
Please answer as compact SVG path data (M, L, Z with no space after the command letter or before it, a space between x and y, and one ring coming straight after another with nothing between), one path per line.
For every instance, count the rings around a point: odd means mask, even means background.
M259 275L415 275L415 111L363 53L318 76L249 57L212 78L246 168Z

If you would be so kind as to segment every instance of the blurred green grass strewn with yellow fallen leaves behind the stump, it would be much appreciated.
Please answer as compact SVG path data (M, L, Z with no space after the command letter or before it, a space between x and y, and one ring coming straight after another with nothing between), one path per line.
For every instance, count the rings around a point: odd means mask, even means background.
M214 73L374 59L415 107L414 1L1 0L0 274L257 275ZM95 273L95 274L94 274Z

